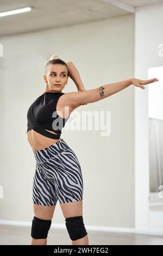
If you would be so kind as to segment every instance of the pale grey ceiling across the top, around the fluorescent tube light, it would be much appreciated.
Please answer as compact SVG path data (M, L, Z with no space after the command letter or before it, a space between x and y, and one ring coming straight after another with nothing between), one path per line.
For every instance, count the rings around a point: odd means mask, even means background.
M0 37L77 25L135 12L135 7L163 0L0 0L0 11L33 7L0 17Z

